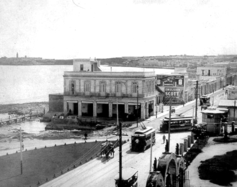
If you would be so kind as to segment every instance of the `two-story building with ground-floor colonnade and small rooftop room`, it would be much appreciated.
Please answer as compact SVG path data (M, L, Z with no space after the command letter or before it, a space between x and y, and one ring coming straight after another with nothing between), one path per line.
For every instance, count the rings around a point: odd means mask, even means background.
M64 73L64 113L94 118L127 113L148 118L155 112L155 78L152 69L75 59L73 71Z

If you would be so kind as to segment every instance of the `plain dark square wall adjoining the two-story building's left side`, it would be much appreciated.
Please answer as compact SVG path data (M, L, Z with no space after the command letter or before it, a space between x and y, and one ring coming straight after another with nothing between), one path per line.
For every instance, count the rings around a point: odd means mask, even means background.
M49 112L63 112L63 95L49 95Z

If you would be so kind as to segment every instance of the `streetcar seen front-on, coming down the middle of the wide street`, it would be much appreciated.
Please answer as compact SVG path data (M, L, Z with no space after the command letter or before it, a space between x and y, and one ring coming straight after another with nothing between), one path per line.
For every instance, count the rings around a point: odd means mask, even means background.
M150 145L155 144L156 136L155 129L152 127L145 127L143 129L136 130L131 136L131 151L142 152L145 151Z

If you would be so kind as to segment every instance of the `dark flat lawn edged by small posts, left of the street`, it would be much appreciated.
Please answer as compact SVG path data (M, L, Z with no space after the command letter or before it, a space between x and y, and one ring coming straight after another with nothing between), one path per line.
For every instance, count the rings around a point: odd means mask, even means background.
M0 157L0 186L38 186L94 158L101 142L45 147L23 152L21 175L20 153Z

